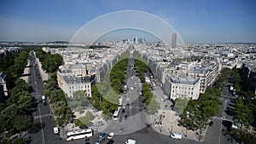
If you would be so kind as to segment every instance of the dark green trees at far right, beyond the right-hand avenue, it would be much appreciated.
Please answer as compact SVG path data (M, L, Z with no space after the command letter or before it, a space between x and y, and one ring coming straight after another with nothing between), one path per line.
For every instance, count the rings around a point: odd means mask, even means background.
M238 142L256 143L256 97L255 88L251 89L255 78L248 75L246 66L232 68L230 76L238 95L233 116L233 124L238 129L231 129L230 135Z

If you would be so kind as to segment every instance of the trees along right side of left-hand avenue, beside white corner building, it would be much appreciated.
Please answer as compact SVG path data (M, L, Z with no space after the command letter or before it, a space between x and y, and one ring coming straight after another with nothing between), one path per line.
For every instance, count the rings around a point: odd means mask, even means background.
M35 49L36 55L42 63L42 68L50 73L48 81L44 82L44 95L49 98L49 103L56 116L56 124L63 125L73 120L73 112L67 105L66 95L58 87L56 71L62 64L61 55L50 55L42 49Z

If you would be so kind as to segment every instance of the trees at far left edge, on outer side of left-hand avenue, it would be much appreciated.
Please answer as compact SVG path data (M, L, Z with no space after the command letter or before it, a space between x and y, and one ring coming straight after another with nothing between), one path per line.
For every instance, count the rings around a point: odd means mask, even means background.
M0 71L8 76L9 92L0 101L0 143L22 143L22 131L29 130L33 123L32 97L29 86L20 79L28 59L27 49L0 57ZM20 133L19 138L11 139L11 135Z

